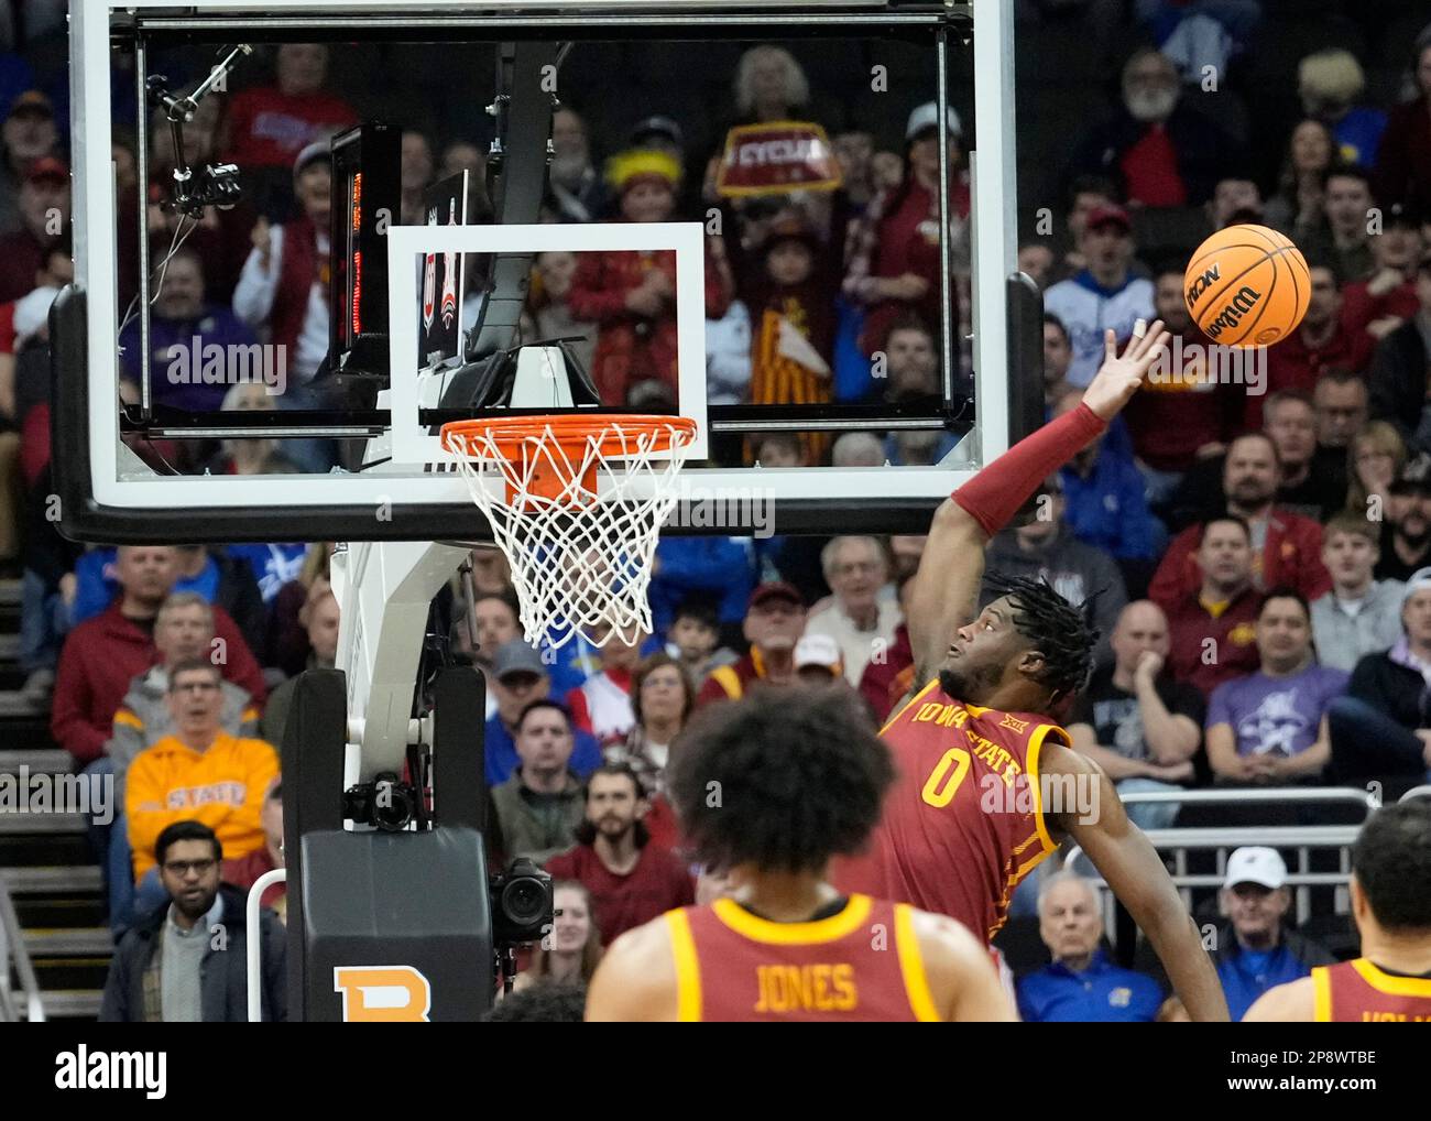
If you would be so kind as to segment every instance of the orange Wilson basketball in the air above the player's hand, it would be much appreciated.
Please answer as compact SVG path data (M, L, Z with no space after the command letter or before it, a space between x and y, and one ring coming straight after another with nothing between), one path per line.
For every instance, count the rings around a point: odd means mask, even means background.
M1228 226L1198 246L1183 292L1192 321L1226 346L1271 346L1307 314L1312 278L1301 251L1266 226Z

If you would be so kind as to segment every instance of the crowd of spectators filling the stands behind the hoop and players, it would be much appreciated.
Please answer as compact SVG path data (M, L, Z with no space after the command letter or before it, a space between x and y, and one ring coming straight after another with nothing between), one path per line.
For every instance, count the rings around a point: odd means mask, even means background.
M1027 0L1019 10L1056 21L1063 10L1110 7ZM1119 105L1062 169L1052 232L1030 226L1019 249L1045 295L1049 415L1076 405L1106 328L1123 339L1136 319L1162 316L1181 344L1196 345L1189 352L1211 344L1182 299L1182 263L1208 232L1262 222L1296 241L1311 266L1308 315L1266 355L1254 391L1203 377L1193 359L1155 378L1123 421L1047 481L1039 514L990 547L990 573L1042 576L1096 614L1099 667L1065 723L1129 793L1372 779L1392 793L1431 767L1431 27L1402 44L1400 103L1367 102L1348 49L1302 59L1305 117L1288 122L1284 166L1266 179L1199 107L1198 86L1208 52L1216 64L1255 57L1261 9L1139 0L1138 46L1118 60ZM1219 34L1199 37L1206 24ZM811 90L797 53L767 44L743 56L730 123L819 123L809 107L840 90ZM6 57L7 73L26 67L23 53ZM186 126L190 162L233 159L252 189L239 206L206 212L173 253L179 230L163 205L173 153L167 132L152 130L147 226L156 259L169 259L152 352L137 352L133 325L119 336L126 399L149 378L156 404L190 412L326 401L329 391L312 384L329 316L326 137L358 119L326 92L329 66L326 47L282 46L270 83L222 107L206 103ZM23 574L27 691L50 706L54 739L76 767L110 770L124 790L123 819L94 830L112 923L129 931L106 1015L222 1018L232 992L207 979L202 992L180 988L177 974L170 991L167 964L202 956L183 936L233 905L220 879L242 889L282 860L275 746L293 674L333 664L331 550L82 553L56 534L44 515L44 312L70 278L63 83L24 73L0 90L0 566ZM950 293L956 338L972 315L957 112L947 113L953 271L940 276L942 169L927 99L909 99L899 137L831 132L839 190L760 200L723 196L718 155L691 150L683 122L660 103L644 102L654 115L608 153L595 150L581 105L574 94L555 116L544 220L720 212L703 293L713 402L937 395L940 292ZM137 183L124 182L135 152L123 136L114 160L120 256L137 261L124 232L135 222L126 208ZM404 220L419 219L435 179L468 169L481 183L484 165L471 135L408 130ZM1178 220L1161 226L1161 218ZM1146 230L1159 233L1149 238L1156 256L1141 243ZM133 275L119 283L123 306ZM531 291L531 335L584 336L578 354L605 402L677 407L673 261L544 253ZM282 345L289 391L265 401L197 378L176 384L166 372L193 339ZM967 354L949 359L967 368ZM339 455L322 441L258 440L136 451L215 472L326 470ZM718 454L811 467L930 462L946 451L874 432L833 444L777 434ZM19 491L21 501L9 497ZM562 918L524 984L581 982L622 929L713 891L681 862L664 799L664 769L694 707L819 681L857 691L874 722L890 714L910 684L902 591L922 545L667 538L651 588L657 633L634 644L577 641L560 656L521 637L499 560L477 558L474 603L458 588L444 593L451 649L469 653L487 679L489 843L502 858L545 862L558 879ZM202 797L210 787L226 793ZM1146 828L1176 817L1176 803L1135 810ZM1246 852L1228 866L1219 969L1229 994L1251 992L1251 1004L1262 989L1245 981L1249 971L1258 984L1282 981L1292 975L1288 953L1304 966L1321 958L1285 929L1281 859ZM280 903L273 895L266 902ZM177 918L165 926L146 905L170 898ZM1156 986L1123 976L1099 951L1085 882L1046 880L1039 915L1053 965L1020 988L1027 1018L1092 1016L1089 994L1115 1018L1165 1018ZM166 964L159 994L145 979L156 941Z

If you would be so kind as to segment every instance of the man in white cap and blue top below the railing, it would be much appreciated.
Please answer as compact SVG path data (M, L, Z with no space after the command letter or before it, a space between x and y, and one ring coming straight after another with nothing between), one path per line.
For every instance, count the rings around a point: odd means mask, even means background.
M1229 922L1218 931L1215 964L1234 1021L1242 1019L1252 1002L1274 985L1308 976L1312 966L1337 961L1284 925L1292 895L1286 889L1286 865L1276 849L1234 850L1218 902Z

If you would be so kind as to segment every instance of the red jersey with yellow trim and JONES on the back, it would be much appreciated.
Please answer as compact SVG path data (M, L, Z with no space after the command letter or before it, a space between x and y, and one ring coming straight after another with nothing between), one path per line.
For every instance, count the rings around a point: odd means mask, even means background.
M693 1021L939 1021L913 908L853 895L814 922L770 922L734 899L665 912Z

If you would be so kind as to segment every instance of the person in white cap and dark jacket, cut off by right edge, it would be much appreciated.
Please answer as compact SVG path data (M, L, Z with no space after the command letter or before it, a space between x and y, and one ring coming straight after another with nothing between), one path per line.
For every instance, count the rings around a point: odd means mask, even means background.
M1347 696L1327 712L1332 776L1361 785L1375 779L1388 799L1431 773L1431 568L1411 576L1401 597L1401 639L1367 654Z

